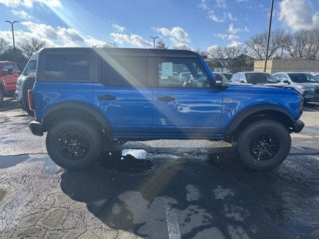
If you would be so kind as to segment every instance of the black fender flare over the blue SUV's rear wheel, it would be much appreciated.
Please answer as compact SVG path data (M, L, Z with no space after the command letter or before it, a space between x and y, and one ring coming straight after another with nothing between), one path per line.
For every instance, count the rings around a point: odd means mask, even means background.
M60 103L48 110L42 117L43 131L47 131L51 123L59 119L81 118L93 120L99 124L107 133L112 133L109 121L93 106L80 102Z

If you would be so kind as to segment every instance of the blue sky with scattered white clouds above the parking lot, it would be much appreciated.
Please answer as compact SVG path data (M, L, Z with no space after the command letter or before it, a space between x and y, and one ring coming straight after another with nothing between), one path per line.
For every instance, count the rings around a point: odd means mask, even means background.
M238 45L268 27L270 0L0 0L0 37L35 36L52 46ZM275 0L273 27L319 27L318 0Z

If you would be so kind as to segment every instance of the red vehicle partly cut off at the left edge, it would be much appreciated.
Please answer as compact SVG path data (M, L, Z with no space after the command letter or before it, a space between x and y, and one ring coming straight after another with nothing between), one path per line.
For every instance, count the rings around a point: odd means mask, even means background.
M0 61L0 103L5 96L14 95L19 70L14 62Z

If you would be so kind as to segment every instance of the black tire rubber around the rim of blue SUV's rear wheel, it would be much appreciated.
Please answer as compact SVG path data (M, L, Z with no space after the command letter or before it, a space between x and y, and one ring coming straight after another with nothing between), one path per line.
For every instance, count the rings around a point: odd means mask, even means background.
M59 150L59 136L68 131L75 131L83 134L88 142L87 154L78 160L66 158ZM91 123L81 119L63 119L52 124L46 135L46 150L50 158L62 168L70 170L82 170L92 166L101 156L102 133Z

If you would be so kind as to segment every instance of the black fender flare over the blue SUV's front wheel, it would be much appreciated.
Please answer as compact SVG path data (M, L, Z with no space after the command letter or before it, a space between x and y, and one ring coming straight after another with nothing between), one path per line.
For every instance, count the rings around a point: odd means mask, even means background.
M232 119L232 121L230 122L227 131L225 133L225 135L231 135L236 128L238 127L238 125L244 120L246 119L248 116L257 113L259 111L278 111L280 113L285 114L287 117L289 117L289 119L291 119L291 121L295 121L295 119L292 117L292 115L287 112L285 109L279 107L279 106L275 106L275 105L254 105L251 106L249 108L246 108L245 110L241 111L240 113L238 113L234 119Z

